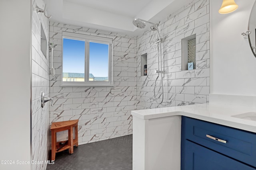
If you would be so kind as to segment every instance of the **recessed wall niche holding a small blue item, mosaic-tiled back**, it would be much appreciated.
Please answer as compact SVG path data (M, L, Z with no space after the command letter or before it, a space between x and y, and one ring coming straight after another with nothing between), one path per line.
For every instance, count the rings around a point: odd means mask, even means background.
M188 63L196 68L196 34L182 39L182 70L188 70Z

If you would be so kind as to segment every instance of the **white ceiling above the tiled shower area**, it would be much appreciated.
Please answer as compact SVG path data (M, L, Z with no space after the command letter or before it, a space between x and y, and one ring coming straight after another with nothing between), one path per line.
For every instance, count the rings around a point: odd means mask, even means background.
M192 0L46 0L51 21L139 35L134 18L158 23ZM150 25L147 25L148 27Z

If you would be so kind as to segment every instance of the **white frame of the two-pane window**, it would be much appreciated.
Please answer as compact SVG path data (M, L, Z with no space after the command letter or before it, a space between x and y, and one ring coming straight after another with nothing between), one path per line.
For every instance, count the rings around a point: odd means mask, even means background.
M62 76L63 76L63 39L75 39L85 41L85 62L84 62L84 82L66 82L61 78L61 86L114 86L112 82L112 58L113 58L113 39L105 37L96 37L92 35L83 35L78 33L62 32ZM90 64L90 42L108 44L108 81L89 81ZM100 69L100 68L99 68ZM61 77L62 77L61 76Z

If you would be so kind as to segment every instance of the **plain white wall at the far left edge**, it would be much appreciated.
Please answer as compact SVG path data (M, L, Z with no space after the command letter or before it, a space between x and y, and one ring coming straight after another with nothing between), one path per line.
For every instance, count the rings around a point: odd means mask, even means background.
M0 169L29 170L31 0L0 1Z

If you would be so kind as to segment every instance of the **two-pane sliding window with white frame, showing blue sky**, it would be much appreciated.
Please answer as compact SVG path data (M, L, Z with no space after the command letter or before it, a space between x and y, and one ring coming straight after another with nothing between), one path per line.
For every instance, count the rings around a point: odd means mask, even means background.
M112 39L62 35L62 85L111 86Z

